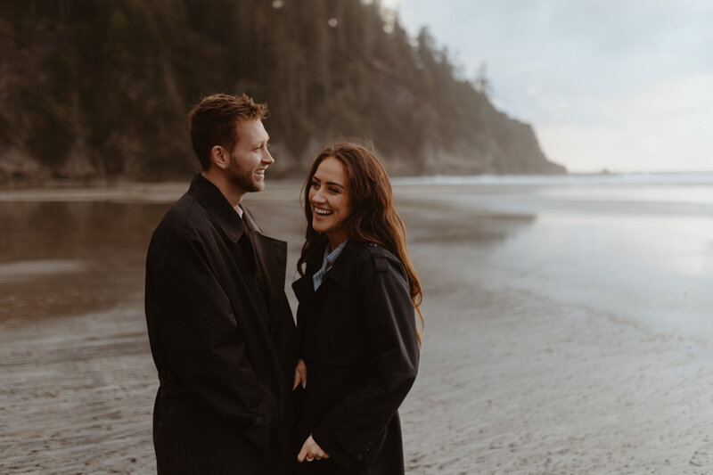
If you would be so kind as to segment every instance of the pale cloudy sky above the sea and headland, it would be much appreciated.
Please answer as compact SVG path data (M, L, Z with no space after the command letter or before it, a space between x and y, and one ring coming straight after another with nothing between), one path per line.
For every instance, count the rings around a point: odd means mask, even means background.
M713 1L381 0L570 172L713 171Z

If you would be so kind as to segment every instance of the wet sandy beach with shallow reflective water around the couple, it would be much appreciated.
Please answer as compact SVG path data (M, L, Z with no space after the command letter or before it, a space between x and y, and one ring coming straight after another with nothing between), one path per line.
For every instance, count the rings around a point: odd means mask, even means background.
M155 472L143 256L186 188L0 192L0 472ZM409 473L713 473L713 184L395 192L426 318ZM288 283L298 199L246 200Z

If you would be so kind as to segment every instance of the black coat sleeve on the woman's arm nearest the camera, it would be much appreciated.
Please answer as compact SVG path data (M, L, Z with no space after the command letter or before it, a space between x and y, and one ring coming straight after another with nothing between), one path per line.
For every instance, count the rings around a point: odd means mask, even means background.
M316 443L345 467L368 453L396 414L418 371L414 305L400 268L393 258L365 262L358 291L370 339L367 354L373 356L369 377L325 414L312 432Z

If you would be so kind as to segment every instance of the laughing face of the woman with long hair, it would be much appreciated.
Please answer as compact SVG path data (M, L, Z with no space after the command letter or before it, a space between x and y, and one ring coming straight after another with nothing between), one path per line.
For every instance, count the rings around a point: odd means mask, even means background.
M309 187L309 205L312 228L327 236L333 250L348 237L343 225L351 212L347 173L340 160L327 157L319 164Z

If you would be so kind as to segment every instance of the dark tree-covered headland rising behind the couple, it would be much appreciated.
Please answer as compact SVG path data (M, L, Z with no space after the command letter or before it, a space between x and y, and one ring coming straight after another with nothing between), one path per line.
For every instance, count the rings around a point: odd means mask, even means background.
M267 102L272 176L341 137L395 175L565 171L378 1L0 0L0 52L0 184L190 176L217 92Z

